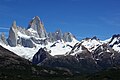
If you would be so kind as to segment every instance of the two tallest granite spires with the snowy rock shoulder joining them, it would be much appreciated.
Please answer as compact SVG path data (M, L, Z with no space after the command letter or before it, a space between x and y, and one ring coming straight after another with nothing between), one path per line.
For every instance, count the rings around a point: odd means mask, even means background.
M47 33L44 29L43 23L39 17L36 16L30 22L30 28L27 30L16 25L16 21L13 22L12 27L9 30L9 37L7 39L8 44L11 47L21 45L23 47L33 48L36 44L47 44L46 41L38 38L45 38ZM34 38L34 39L33 39Z

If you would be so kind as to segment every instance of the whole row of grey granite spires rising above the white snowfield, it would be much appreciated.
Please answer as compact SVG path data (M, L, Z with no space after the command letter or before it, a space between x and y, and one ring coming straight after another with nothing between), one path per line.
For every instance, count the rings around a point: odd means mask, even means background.
M35 16L29 23L27 29L17 26L16 21L13 22L9 30L9 36L5 44L11 47L21 45L23 47L33 48L36 44L47 45L49 42L63 40L71 42L75 38L71 33L62 33L57 30L54 33L46 32L43 22L38 16Z

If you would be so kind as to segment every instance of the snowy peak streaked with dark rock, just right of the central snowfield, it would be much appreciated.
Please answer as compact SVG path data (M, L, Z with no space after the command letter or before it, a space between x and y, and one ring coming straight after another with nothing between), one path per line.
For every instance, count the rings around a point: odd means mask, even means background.
M72 48L70 55L76 55L84 51L93 52L98 46L103 43L98 39L86 38L75 44Z

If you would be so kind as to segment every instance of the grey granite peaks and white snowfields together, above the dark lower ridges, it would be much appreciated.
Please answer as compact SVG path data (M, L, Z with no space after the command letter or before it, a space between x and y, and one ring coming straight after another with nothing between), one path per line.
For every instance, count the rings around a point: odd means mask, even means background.
M5 39L4 35L0 39L1 46L29 60L32 60L35 53L44 47L49 50L51 56L74 56L79 53L93 53L103 44L120 52L120 35L113 35L105 41L101 41L97 37L77 41L70 32L62 33L61 30L46 32L38 16L30 21L27 29L18 27L14 21L8 39Z

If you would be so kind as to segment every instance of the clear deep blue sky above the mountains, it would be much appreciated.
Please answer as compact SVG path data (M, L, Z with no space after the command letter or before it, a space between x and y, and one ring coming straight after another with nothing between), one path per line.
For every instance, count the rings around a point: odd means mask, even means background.
M0 32L6 35L14 20L27 27L34 16L47 32L61 29L78 39L120 33L120 0L0 0Z

